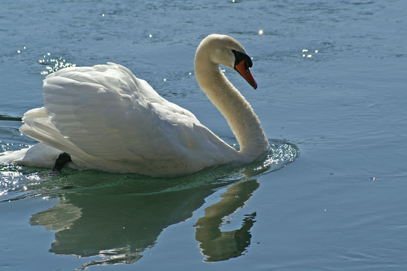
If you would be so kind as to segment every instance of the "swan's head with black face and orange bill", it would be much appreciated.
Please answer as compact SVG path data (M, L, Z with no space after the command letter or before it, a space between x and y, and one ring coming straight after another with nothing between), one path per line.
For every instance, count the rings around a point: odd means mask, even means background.
M207 50L211 62L236 70L254 89L257 88L249 69L253 63L237 40L227 35L212 34L201 41L197 52L199 49Z

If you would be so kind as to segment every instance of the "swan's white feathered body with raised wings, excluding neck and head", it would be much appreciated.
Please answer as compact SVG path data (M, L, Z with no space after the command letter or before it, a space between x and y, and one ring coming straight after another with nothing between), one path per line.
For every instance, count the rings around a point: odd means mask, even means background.
M237 154L121 65L62 69L43 88L44 107L28 111L20 130L81 168L177 176Z

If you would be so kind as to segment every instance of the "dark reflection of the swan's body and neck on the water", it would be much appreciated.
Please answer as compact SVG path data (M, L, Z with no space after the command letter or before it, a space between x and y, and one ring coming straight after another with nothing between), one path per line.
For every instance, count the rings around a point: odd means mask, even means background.
M163 229L190 218L206 197L224 185L230 184L212 183L152 194L112 195L102 188L67 193L59 197L56 206L33 214L30 223L55 231L49 250L54 254L101 257L83 268L133 263L142 257L141 252L154 246ZM195 225L195 238L206 261L240 256L249 246L255 213L246 216L238 230L222 232L219 227L222 219L243 206L258 186L252 179L234 183L219 202L205 209L205 216Z

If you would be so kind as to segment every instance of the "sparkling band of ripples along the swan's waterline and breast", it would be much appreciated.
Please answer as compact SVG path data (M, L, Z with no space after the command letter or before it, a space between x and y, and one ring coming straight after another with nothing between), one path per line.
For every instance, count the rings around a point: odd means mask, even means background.
M239 148L237 144L233 144ZM199 186L219 187L276 171L293 162L296 145L270 140L269 150L250 164L215 165L180 178L155 178L95 170L54 172L20 165L0 164L0 201L32 197L56 198L71 193L150 195Z

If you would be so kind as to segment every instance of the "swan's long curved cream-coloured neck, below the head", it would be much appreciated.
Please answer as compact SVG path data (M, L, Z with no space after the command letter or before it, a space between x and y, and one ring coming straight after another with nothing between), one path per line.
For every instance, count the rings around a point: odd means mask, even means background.
M251 161L269 147L266 134L253 109L227 80L219 65L195 56L195 76L199 87L222 113L240 145L242 160Z

